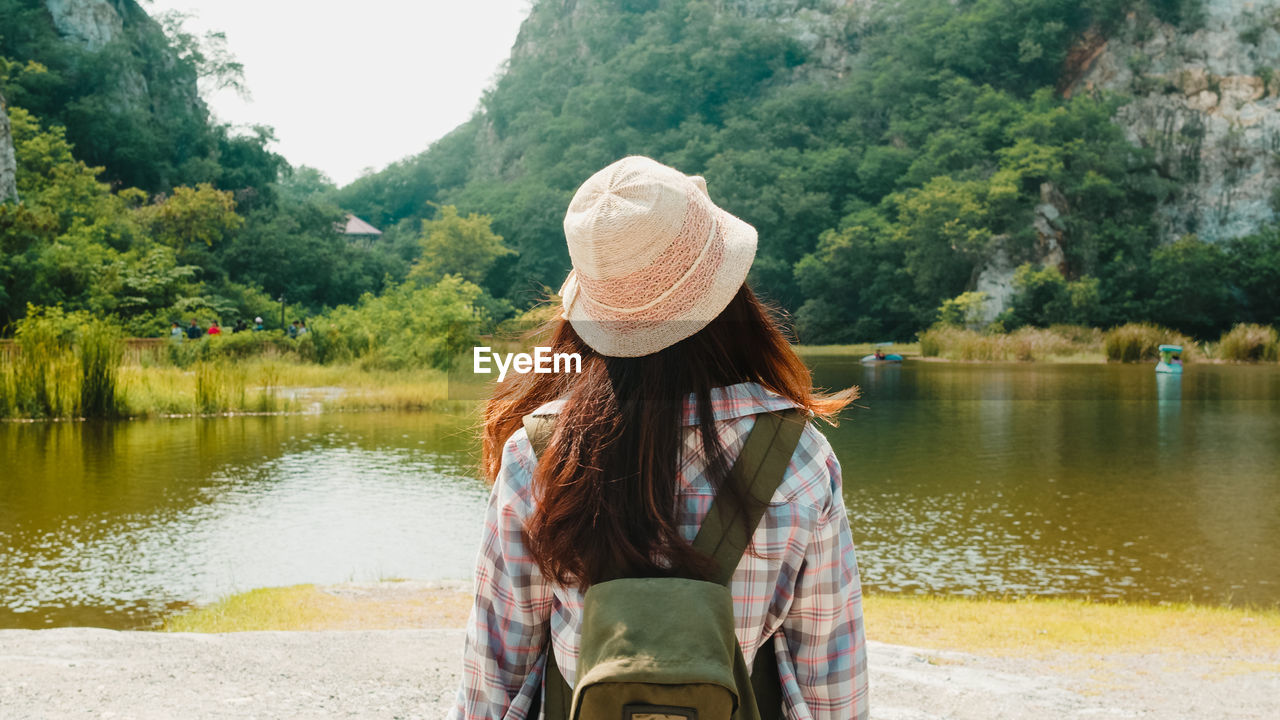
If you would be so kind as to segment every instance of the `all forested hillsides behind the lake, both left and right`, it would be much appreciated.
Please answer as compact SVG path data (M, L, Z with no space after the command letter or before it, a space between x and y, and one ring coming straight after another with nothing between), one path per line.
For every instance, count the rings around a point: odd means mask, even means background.
M0 327L280 296L492 325L558 287L570 196L628 154L756 225L751 281L805 342L910 340L947 302L1280 323L1280 0L538 0L470 122L340 190L214 122L201 78L239 68L133 0L0 0ZM349 243L344 213L387 232Z

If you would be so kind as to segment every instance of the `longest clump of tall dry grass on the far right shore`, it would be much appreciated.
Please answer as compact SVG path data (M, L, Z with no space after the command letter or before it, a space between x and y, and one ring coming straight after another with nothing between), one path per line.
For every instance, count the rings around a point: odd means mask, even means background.
M938 324L920 333L920 355L964 361L1032 361L1096 356L1102 333L1094 328L1053 325L1018 328L1011 333L979 333Z

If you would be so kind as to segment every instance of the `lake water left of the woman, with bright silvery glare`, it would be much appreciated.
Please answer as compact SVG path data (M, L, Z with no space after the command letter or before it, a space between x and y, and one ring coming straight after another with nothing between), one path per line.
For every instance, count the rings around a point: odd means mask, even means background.
M145 625L237 589L466 578L465 418L0 427L0 626Z

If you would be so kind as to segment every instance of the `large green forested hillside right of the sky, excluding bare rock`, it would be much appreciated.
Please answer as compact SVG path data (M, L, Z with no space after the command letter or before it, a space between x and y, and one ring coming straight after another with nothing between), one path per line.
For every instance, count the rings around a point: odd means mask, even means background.
M470 123L338 197L404 233L431 201L492 214L517 254L485 284L521 305L566 272L573 188L639 152L704 174L759 228L753 281L804 341L911 337L979 287L1002 295L1006 327L1155 320L1208 337L1280 319L1275 209L1215 242L1166 222L1204 201L1184 192L1211 170L1184 156L1196 127L1170 140L1115 119L1180 92L1155 74L1161 42L1221 53L1196 42L1224 13L1274 105L1275 5L541 0ZM1082 82L1108 42L1130 47L1112 60L1126 82Z

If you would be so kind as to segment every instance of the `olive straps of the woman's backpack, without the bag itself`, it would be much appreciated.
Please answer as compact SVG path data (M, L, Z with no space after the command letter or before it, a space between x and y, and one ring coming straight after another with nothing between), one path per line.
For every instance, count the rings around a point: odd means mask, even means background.
M694 548L716 561L714 582L728 585L732 580L733 571L764 516L764 510L786 477L787 465L800 443L805 424L806 415L796 409L760 413L755 416L755 424L730 471L730 482L737 486L746 501L745 512L731 507L728 502L721 502L721 497L717 496L694 538ZM525 415L524 425L534 455L541 456L556 430L556 415ZM543 716L547 720L568 720L570 698L573 693L556 665L549 633L543 687L545 693ZM772 639L765 641L755 653L751 689L760 720L782 720L782 680ZM532 717L536 717L536 706Z

